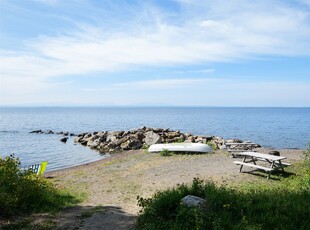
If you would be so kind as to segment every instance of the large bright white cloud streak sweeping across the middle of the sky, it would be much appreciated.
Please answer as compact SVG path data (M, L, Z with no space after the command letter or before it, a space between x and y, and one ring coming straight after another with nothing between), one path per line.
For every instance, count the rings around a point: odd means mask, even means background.
M177 66L259 55L310 55L309 42L305 42L310 40L306 11L277 1L274 5L265 1L238 2L247 7L238 10L239 5L229 4L226 9L218 1L212 2L211 14L224 11L219 19L204 19L200 13L176 25L156 11L151 15L156 19L149 20L153 23L135 19L127 22L127 30L114 28L109 35L106 28L83 23L81 31L33 39L27 53L16 51L13 57L2 54L2 69L6 76L33 76L40 72L41 77L52 77L122 71L141 65ZM205 1L202 10L208 12L209 5ZM248 11L242 11L244 8ZM232 17L233 13L238 17ZM18 70L13 66L19 66Z

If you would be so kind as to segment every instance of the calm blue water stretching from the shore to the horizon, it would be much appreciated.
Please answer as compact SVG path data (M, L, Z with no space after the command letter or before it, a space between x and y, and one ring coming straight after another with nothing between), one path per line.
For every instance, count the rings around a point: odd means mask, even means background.
M130 130L142 126L170 128L195 135L251 140L276 149L306 149L310 142L310 108L0 108L0 156L14 153L22 165L48 161L48 171L107 157L73 138L66 144L52 130L79 134Z

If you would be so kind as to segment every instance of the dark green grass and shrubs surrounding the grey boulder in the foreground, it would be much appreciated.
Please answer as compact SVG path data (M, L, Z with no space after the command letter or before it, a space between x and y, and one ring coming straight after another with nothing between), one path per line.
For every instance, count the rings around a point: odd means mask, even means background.
M310 159L291 167L279 181L218 186L194 179L192 184L138 197L137 229L310 229ZM186 195L207 200L208 209L180 204Z

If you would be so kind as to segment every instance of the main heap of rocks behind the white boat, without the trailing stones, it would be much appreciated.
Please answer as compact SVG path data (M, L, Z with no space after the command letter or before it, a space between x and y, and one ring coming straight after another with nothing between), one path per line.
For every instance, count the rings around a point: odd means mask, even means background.
M191 133L181 133L161 128L142 127L131 131L94 132L79 134L74 141L100 152L115 152L122 150L141 149L158 143L191 142L213 143L216 148L224 144L224 139L214 136L195 136Z

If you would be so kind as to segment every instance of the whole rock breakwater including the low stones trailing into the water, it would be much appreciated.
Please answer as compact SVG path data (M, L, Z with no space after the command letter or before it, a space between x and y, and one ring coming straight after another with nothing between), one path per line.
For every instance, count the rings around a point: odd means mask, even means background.
M242 141L239 139L225 140L218 136L193 135L191 133L182 133L179 130L170 130L163 128L142 127L130 131L98 131L73 134L69 132L55 132L52 130L42 131L34 130L30 133L35 134L57 134L63 136L61 142L66 143L69 137L74 137L74 142L98 150L101 153L119 152L125 150L137 150L147 148L152 144L159 143L204 143L211 145L214 149L226 149L227 143L242 143L242 145L230 146L230 149L252 150L261 147L260 145L245 145L251 141Z

